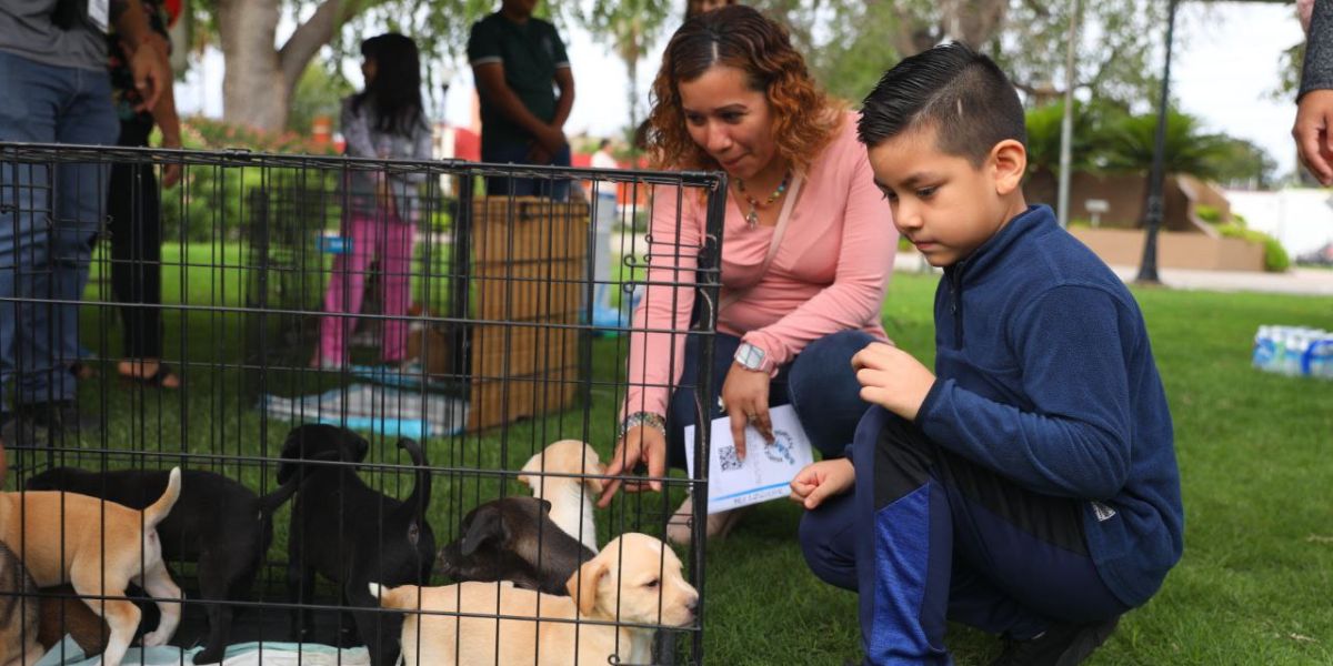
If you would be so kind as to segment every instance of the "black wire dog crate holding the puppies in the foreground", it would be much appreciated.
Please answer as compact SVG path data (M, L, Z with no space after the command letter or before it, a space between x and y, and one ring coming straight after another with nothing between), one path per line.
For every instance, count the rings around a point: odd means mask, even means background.
M171 189L152 180L168 166L183 173ZM9 490L0 493L0 541L13 555L0 547L0 606L41 610L13 614L13 637L37 622L49 634L43 650L56 653L48 659L77 663L85 649L116 650L117 609L129 601L143 614L135 631L144 650L175 650L165 654L180 663L228 650L255 653L255 663L320 655L388 666L400 647L420 663L702 662L705 502L694 503L694 538L680 554L684 581L700 593L688 621L669 617L678 599L665 582L655 610L633 615L621 574L637 557L639 537L627 534L661 537L684 493L706 494L706 466L663 478L661 494L621 494L588 511L605 481L599 460L608 462L619 437L631 340L648 333L631 324L635 300L694 298L688 330L652 333L706 340L716 329L722 176L27 144L0 144L0 316L13 317L0 329L13 349L0 366L11 472L0 480ZM107 180L112 169L123 169L120 180ZM572 196L485 196L488 177L568 181ZM89 190L96 213L64 204ZM109 217L108 194L129 198L120 210L132 224ZM648 233L663 197L706 201L701 241ZM116 234L133 236L140 254L113 252ZM655 260L684 256L697 256L697 269L649 276ZM151 294L159 274L160 304ZM668 289L645 289L649 280ZM160 349L145 352L155 333ZM712 362L705 350L696 413L708 412ZM124 377L155 365L163 372L152 381ZM157 386L169 374L180 386ZM706 460L708 429L696 432L696 460ZM560 468L553 444L567 440L595 456ZM183 470L173 503L172 468ZM524 484L540 493L569 481L592 527L561 535L545 517L563 500L548 493L543 507ZM131 518L109 502L81 513L53 489L109 498ZM153 513L163 506L168 513ZM29 518L40 510L59 525ZM484 541L488 511L505 525L495 534L532 537L537 561L515 565L513 543ZM505 523L512 515L528 522ZM137 569L115 570L127 534L137 539L155 519L165 574L151 570L151 545L131 549ZM548 589L565 565L543 558L575 553L557 535L596 557L576 557L568 585ZM485 571L451 559L469 543ZM65 553L56 565L47 545ZM647 566L665 581L677 555L656 557ZM85 570L91 561L96 571ZM140 586L123 589L127 575ZM452 586L463 579L517 581L543 594ZM612 579L611 610L584 609L583 590ZM357 589L367 583L377 594ZM419 587L399 587L409 583ZM496 601L464 607L467 590ZM511 594L536 607L524 611ZM557 613L571 602L577 613ZM153 646L177 611L179 627ZM409 637L404 625L420 631ZM432 643L479 626L493 637L484 661L469 659L465 641L449 643L448 658ZM620 657L589 661L608 626ZM648 633L620 631L633 629ZM656 642L631 651L619 645L624 635ZM507 657L525 642L536 657Z

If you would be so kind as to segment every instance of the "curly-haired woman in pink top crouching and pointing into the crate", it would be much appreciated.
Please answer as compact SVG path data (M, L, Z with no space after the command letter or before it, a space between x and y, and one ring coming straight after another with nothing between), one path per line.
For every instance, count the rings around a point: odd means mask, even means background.
M717 336L639 333L631 338L629 390L609 474L647 465L663 477L684 466L694 424L701 348L714 345L712 418L730 417L744 456L748 424L772 440L769 408L790 404L824 457L842 454L866 409L852 356L888 340L880 306L897 232L874 185L865 147L845 107L810 77L786 31L742 5L688 20L672 37L653 83L649 151L657 165L725 170L722 293ZM659 190L648 246L648 289L636 330L685 330L694 294L672 288L693 276L705 201ZM717 442L722 445L722 442ZM605 506L620 489L608 484ZM657 481L628 492L660 490ZM690 501L668 526L689 539ZM714 513L721 537L740 511Z

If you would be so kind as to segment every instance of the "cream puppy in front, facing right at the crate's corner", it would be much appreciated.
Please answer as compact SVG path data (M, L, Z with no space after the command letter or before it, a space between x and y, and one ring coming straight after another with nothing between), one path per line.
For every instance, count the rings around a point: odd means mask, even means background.
M660 539L637 533L612 539L585 562L569 578L569 597L524 590L511 582L393 589L371 583L371 594L387 609L407 611L405 666L647 663L652 659L652 629L572 621L681 627L694 622L698 606L698 593L681 575L676 553Z

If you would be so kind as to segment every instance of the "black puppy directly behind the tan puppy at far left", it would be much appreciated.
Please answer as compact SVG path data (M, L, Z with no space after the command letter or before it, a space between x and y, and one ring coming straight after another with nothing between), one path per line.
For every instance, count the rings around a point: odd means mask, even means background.
M180 500L157 525L163 558L197 562L199 593L205 601L248 601L255 575L273 541L273 511L296 492L284 482L260 497L221 474L183 470ZM85 472L56 468L28 480L28 490L65 490L144 509L167 490L164 470ZM235 607L208 603L208 643L195 663L223 661Z

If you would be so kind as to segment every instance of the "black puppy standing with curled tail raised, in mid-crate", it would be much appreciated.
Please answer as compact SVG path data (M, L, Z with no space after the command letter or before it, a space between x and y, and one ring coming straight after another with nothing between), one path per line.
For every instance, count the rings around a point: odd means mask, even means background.
M392 666L399 658L401 614L380 613L380 602L369 583L385 586L425 585L435 565L435 533L425 521L431 502L431 472L421 448L412 440L399 440L417 466L416 488L403 502L365 485L353 465L297 461L360 462L368 444L364 438L329 425L303 425L292 430L283 446L277 480L301 480L292 502L292 529L288 534L288 594L307 603L315 589L315 574L337 583L345 606L353 611L356 634L371 653L375 666ZM293 638L305 641L311 633L309 613L292 611ZM353 642L351 633L345 642Z

